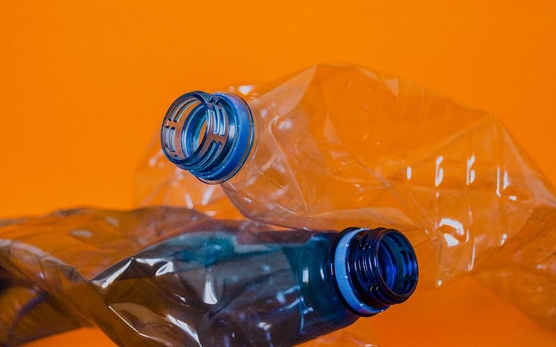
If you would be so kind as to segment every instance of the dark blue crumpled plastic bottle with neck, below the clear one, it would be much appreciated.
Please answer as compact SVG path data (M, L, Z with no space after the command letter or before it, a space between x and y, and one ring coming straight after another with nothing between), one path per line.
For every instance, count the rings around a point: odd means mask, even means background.
M184 327L180 344L291 346L402 303L416 287L413 248L396 230L264 231L231 221L196 230L95 280L118 273L108 300L130 303L141 290L141 301L164 301L165 316ZM152 290L161 287L163 298Z

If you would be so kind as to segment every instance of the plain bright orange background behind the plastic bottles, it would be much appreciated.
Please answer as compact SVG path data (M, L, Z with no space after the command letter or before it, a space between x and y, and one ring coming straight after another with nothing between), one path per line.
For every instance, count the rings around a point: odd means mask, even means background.
M490 110L554 183L555 17L554 1L3 1L0 218L130 208L133 170L175 96L327 61ZM556 341L473 280L411 302L375 317L384 346ZM35 346L107 341L88 330Z

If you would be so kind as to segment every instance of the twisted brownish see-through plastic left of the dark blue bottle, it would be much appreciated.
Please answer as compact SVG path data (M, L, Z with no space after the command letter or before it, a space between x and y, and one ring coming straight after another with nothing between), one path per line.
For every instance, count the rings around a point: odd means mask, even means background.
M95 317L89 316L95 307L88 305L108 309L95 302L98 294L86 285L94 273L165 232L206 218L177 208L76 209L2 221L0 345L96 325Z

